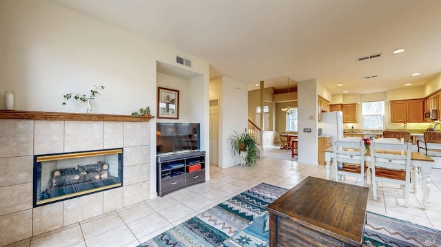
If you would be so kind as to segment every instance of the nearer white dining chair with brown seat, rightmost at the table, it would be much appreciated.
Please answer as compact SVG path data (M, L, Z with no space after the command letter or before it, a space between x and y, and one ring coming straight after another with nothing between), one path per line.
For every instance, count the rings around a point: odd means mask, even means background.
M384 182L400 184L404 194L404 206L409 207L411 142L373 142L371 145L371 184L373 200L377 200L377 182L382 183L382 190L391 191Z

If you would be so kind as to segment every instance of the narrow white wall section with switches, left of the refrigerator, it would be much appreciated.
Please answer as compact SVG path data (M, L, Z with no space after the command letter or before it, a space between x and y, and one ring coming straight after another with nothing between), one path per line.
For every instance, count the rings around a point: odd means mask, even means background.
M318 164L316 80L298 82L298 162ZM310 119L314 116L314 119ZM303 132L304 128L311 133Z

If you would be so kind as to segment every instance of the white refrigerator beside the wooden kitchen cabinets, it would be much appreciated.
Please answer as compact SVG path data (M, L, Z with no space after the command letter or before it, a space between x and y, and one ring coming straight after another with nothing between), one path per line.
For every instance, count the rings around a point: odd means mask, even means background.
M322 120L317 126L322 129L322 136L331 136L332 143L343 140L342 111L322 112Z

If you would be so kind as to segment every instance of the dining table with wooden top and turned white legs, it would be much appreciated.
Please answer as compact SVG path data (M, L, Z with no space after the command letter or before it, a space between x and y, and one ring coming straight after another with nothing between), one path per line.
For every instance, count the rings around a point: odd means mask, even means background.
M379 150L381 151L381 150ZM384 153L391 153L394 152L400 152L400 151L384 151ZM326 161L326 178L329 180L331 178L331 160L334 156L334 149L333 147L329 147L325 149L325 161ZM370 167L371 165L371 155L370 153L367 153L365 155L365 161L367 162L367 166ZM422 173L422 208L423 209L429 209L430 207L430 201L429 201L429 194L430 194L430 176L432 173L432 167L435 160L430 158L427 155L424 155L424 153L419 152L412 152L411 153L411 180L412 180L412 189L413 193L418 193L419 187L418 187L418 169L420 168L420 171Z

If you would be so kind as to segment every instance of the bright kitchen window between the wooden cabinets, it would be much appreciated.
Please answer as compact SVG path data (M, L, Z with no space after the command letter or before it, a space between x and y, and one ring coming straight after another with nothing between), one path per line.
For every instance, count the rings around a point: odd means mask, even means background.
M384 100L361 103L363 129L384 129Z

